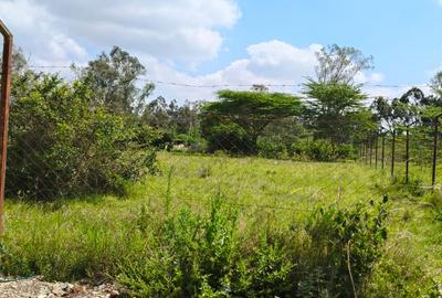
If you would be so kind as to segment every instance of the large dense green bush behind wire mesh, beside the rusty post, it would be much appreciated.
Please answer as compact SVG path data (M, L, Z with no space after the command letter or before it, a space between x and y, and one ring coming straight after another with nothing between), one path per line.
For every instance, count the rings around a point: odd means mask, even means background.
M86 82L44 75L13 98L8 195L122 193L126 181L155 169L151 141L158 137L127 116L92 106L93 96Z

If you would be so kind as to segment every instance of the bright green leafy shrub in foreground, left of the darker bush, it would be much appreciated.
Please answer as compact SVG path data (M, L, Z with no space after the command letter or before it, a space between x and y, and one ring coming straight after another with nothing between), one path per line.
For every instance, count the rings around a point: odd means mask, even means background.
M120 264L119 283L137 297L228 294L228 277L238 253L235 223L236 213L220 199L212 202L206 217L180 211L157 226L158 237L152 240L149 255Z

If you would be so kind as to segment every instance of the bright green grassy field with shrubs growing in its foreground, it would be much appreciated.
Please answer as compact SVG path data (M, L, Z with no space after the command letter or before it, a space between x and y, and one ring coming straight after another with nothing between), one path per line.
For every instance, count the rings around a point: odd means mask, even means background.
M388 169L161 152L124 198L9 199L0 273L134 297L438 297L442 195Z

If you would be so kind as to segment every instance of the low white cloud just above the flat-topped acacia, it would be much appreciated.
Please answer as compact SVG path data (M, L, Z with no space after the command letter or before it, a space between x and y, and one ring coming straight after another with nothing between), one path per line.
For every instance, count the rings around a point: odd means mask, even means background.
M251 85L251 84L286 84L297 85L305 82L305 77L313 76L316 65L315 53L322 45L312 44L305 49L293 46L282 41L269 41L250 45L249 56L230 63L225 68L200 76L177 72L170 65L160 63L151 57L141 57L149 68L149 76L157 81L179 82L190 85ZM213 99L214 91L211 87L179 87L157 85L157 95L169 98ZM249 86L229 87L248 89ZM299 93L301 87L272 87L271 91Z

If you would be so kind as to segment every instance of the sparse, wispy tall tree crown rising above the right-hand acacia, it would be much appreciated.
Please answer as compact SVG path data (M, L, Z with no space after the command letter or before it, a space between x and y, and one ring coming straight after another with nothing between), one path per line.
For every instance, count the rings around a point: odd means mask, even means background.
M372 56L364 56L357 49L336 44L323 47L316 53L317 83L352 84L358 73L372 68Z

